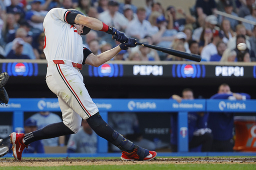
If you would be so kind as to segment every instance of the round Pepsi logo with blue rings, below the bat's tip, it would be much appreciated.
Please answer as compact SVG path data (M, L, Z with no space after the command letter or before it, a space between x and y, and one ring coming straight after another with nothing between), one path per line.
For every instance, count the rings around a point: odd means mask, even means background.
M205 66L195 64L173 64L172 77L200 78L205 77Z

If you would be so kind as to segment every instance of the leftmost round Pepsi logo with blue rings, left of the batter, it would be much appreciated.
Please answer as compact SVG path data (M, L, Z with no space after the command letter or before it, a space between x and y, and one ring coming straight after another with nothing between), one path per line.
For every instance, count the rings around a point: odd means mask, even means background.
M10 76L37 76L37 63L2 63L2 71L7 72Z

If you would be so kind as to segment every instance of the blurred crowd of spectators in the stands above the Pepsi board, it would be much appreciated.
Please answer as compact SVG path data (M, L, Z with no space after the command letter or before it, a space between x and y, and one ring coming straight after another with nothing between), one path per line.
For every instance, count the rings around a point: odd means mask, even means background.
M199 54L202 61L256 61L253 48L256 46L256 26L228 17L232 15L256 23L255 0L195 0L189 13L184 12L187 9L182 6L172 6L171 1L167 6L157 0L145 0L144 6L132 2L0 0L0 58L45 59L42 22L51 8L61 7L78 9L140 42ZM91 30L82 38L95 55L118 45L110 35L100 31ZM246 50L236 48L241 42L246 43ZM113 60L186 61L139 46L122 50Z

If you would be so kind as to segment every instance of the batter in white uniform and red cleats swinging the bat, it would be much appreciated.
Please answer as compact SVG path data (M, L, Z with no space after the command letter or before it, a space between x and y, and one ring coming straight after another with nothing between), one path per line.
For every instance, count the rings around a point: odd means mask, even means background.
M121 160L148 161L156 152L148 151L123 138L99 115L96 105L86 90L80 73L83 64L98 67L114 57L121 49L135 47L136 40L109 27L100 20L85 16L75 9L53 8L43 21L45 33L44 54L48 63L46 83L58 97L63 122L50 124L28 134L10 134L13 156L21 160L21 153L31 142L77 133L81 119L86 119L93 131L121 151ZM112 34L120 45L99 55L92 54L82 44L81 35L90 29Z

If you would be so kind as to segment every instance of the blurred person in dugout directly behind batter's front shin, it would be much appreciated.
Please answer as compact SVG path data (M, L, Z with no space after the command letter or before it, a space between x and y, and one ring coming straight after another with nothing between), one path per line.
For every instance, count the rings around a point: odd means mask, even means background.
M110 113L108 114L108 124L135 145L139 145L147 150L155 150L155 144L153 142L143 139L135 113ZM114 145L111 145L111 150L112 152L120 151Z

